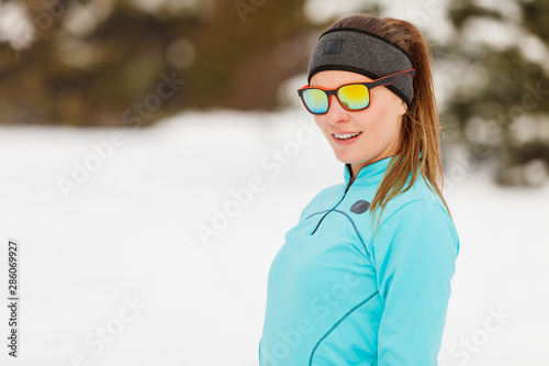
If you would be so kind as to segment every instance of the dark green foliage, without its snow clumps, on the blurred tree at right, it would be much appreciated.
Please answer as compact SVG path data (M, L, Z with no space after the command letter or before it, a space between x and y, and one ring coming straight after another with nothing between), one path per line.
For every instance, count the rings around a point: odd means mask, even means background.
M463 138L473 155L479 144L488 146L488 154L474 158L495 159L498 182L537 185L547 180L549 163L549 67L547 60L529 59L528 53L538 52L531 40L537 38L549 46L549 4L545 0L517 1L516 4L520 13L515 15L519 16L511 19L502 12L479 8L469 0L453 4L449 15L459 36L446 45L445 51L460 55L471 67L483 68L488 78L484 84L474 80L480 85L469 92L457 92L446 109L446 119L460 122L466 131ZM516 26L526 35L519 36L518 43L511 47L491 44L471 47L468 43L477 40L463 41L461 37L467 33L468 22L478 19ZM485 129L473 127L482 125L492 125L491 132L486 134Z

